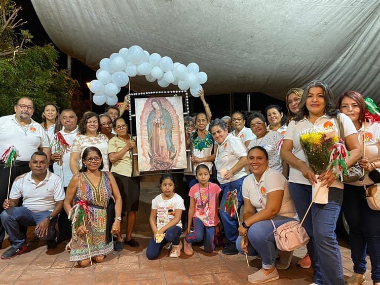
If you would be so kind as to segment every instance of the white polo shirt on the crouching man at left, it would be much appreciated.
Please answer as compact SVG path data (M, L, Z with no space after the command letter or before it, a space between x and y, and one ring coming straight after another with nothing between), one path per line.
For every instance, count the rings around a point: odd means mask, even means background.
M29 171L18 177L13 182L10 199L19 199L22 205L32 212L53 211L56 201L65 199L61 177L46 170L47 174L43 181L36 184Z

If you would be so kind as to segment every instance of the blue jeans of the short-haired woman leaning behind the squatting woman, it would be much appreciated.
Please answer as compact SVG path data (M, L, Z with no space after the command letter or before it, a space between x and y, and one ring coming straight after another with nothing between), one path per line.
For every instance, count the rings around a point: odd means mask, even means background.
M233 243L236 242L236 239L239 236L238 220L236 219L235 216L230 217L228 215L228 213L226 213L224 211L224 205L223 204L225 202L225 198L227 197L227 192L233 191L235 189L238 190L238 214L239 214L240 207L243 204L242 185L243 185L243 181L244 181L245 177L246 176L241 177L240 179L235 180L235 181L230 182L230 183L220 184L221 192L223 193L222 199L220 201L220 209L219 209L220 219L221 219L221 222L223 224L225 237Z

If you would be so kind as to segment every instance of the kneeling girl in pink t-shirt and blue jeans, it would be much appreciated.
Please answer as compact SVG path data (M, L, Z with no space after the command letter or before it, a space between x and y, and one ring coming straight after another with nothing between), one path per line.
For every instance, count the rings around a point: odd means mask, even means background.
M198 183L194 185L189 193L190 206L188 209L188 224L183 239L183 252L185 255L193 255L192 242L203 240L205 252L214 251L214 235L218 231L218 211L220 187L209 182L210 169L205 164L197 166L196 177ZM190 228L194 223L194 232L190 233Z

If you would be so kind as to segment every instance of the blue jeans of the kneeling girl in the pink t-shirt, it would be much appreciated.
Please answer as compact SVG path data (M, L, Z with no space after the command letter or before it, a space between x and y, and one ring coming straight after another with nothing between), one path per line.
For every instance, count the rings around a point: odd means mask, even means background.
M194 225L194 233L187 235L186 241L189 243L199 242L203 240L203 245L205 247L206 253L212 253L215 249L214 244L214 235L215 235L215 227L206 227L203 222L193 217L193 225Z

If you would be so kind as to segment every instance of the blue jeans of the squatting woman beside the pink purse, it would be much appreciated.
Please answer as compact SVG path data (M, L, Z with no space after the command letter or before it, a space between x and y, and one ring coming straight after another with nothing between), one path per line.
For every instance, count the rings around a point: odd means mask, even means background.
M276 228L289 221L295 221L295 219L287 217L277 217L277 220L273 220ZM262 261L262 268L271 269L275 266L276 262L276 241L273 235L273 225L270 220L260 221L254 223L249 227L247 232L248 237L248 256L259 256ZM242 237L239 236L236 240L236 248L242 254L244 254L240 241Z

